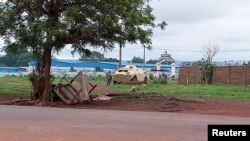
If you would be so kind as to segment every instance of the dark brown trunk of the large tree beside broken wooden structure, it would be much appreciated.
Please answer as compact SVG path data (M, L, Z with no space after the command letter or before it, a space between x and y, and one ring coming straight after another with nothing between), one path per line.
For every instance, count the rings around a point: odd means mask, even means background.
M42 90L42 103L46 104L49 98L50 89L50 67L51 67L51 49L45 48L43 59L43 90Z

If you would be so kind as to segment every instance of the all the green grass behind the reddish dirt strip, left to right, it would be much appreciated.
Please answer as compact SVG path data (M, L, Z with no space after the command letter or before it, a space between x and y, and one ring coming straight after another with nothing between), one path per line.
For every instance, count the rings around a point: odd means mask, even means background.
M61 77L55 77L54 84L58 84ZM67 78L71 80L71 78ZM105 77L89 77L91 82L106 84ZM222 84L210 85L178 85L175 81L149 80L147 85L139 85L144 93L159 93L174 96L208 97L218 99L250 100L250 86L234 86ZM133 85L116 84L110 86L121 93L131 93ZM0 77L0 95L30 94L31 84L28 77L6 76ZM132 93L131 93L132 94Z

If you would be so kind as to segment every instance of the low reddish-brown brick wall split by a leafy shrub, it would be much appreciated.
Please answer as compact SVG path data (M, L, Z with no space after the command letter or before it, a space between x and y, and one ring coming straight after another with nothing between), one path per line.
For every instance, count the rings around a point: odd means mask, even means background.
M203 83L202 72L198 67L181 67L179 84ZM250 66L213 67L212 83L229 85L250 85Z

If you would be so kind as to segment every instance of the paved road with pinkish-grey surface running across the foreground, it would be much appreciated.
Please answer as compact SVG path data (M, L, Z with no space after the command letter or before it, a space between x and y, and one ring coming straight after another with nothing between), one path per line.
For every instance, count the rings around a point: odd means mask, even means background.
M206 141L208 124L249 123L230 116L0 106L3 141Z

